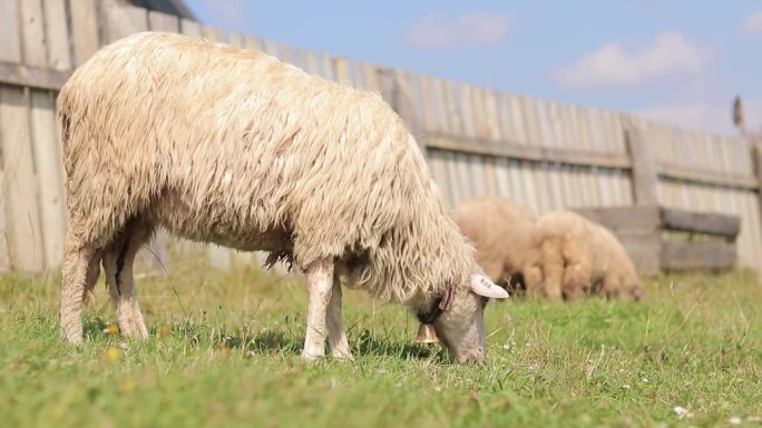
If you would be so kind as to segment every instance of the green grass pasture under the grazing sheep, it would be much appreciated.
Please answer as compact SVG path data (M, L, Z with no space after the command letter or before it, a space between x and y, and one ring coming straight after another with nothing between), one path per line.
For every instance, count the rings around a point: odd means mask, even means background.
M762 286L745 271L662 276L642 303L491 303L483 367L411 344L417 324L401 306L358 291L344 293L355 361L302 364L300 282L198 266L138 279L145 342L102 331L114 312L99 286L85 345L72 348L58 336L58 281L0 279L2 427L760 426L762 416Z

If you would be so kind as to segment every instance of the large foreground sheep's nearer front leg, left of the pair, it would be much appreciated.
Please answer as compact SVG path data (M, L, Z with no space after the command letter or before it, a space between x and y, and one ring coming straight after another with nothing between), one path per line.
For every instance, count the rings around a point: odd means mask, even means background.
M325 325L333 288L333 261L315 260L306 268L307 325L302 360L313 361L325 356Z

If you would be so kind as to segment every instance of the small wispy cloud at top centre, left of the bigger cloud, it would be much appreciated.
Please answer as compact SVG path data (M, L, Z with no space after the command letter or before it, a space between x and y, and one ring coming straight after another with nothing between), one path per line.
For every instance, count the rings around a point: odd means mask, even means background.
M469 12L455 19L430 12L410 27L407 39L421 48L494 44L505 39L508 21L508 16L487 12Z

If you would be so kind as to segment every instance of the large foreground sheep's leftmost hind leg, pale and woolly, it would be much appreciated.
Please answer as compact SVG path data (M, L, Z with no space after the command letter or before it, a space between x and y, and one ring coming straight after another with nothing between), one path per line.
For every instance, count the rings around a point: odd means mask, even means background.
M90 261L96 253L92 246L67 239L61 271L61 332L70 344L82 342L82 302Z

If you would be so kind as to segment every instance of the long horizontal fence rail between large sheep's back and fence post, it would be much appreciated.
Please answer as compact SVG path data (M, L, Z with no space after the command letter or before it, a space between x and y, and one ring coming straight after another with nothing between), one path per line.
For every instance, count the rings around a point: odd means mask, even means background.
M491 141L441 133L422 137L427 147L473 155L498 156L537 162L558 162L599 168L628 169L629 158L624 153L592 152L541 146L527 146L512 141Z

